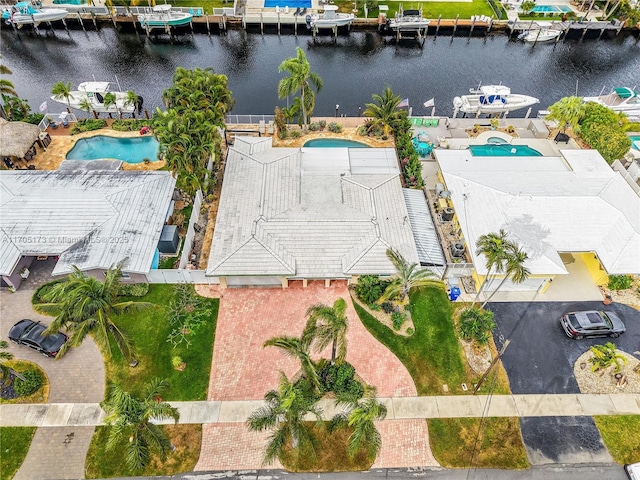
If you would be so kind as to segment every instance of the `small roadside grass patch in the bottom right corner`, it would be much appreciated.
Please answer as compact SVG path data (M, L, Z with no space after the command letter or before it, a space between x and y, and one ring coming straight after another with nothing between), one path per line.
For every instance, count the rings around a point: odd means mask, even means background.
M640 461L640 415L599 416L593 420L616 462Z

